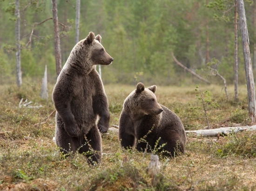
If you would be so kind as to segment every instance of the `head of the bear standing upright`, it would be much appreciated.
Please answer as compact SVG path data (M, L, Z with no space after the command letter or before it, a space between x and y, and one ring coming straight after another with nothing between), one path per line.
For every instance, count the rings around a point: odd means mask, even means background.
M84 39L83 46L88 54L88 61L91 61L93 65L109 65L114 60L101 45L101 35L94 36L93 32L90 32L87 38Z

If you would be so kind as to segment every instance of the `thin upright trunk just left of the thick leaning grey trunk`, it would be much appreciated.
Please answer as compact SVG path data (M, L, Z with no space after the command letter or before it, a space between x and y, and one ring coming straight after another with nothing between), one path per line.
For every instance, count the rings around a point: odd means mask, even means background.
M235 21L234 21L234 32L235 32L235 51L234 51L234 73L235 73L235 79L234 79L234 85L235 85L235 100L238 99L238 46L237 46L237 1L235 0Z

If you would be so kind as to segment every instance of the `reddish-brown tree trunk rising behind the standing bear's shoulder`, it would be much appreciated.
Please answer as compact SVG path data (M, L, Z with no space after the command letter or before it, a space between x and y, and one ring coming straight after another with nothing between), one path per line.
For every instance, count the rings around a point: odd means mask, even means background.
M55 53L55 64L56 64L56 75L57 77L61 73L61 42L59 35L59 21L58 21L58 10L56 0L52 0L53 20L54 20L54 53Z

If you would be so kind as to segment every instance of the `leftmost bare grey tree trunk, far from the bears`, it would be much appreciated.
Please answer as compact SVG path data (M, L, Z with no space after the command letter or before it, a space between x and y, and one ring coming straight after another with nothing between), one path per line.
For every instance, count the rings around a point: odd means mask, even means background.
M15 1L15 16L16 16L16 24L15 24L15 37L16 37L16 83L20 88L22 83L21 78L21 61L20 61L20 0Z

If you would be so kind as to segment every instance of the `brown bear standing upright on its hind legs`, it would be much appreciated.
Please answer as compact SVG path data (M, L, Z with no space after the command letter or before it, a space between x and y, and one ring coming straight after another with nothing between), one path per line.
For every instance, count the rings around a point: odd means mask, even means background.
M78 151L89 163L101 161L100 132L108 131L110 114L95 65L109 65L113 60L101 45L101 36L93 32L67 58L52 95L57 111L55 142L64 154Z

